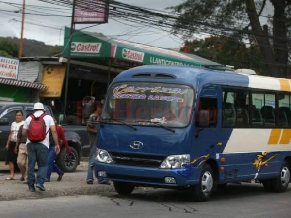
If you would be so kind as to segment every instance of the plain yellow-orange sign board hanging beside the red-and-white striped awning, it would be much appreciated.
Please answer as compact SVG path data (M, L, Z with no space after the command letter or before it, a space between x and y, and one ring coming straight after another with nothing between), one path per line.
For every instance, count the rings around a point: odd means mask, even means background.
M44 66L42 84L48 86L47 90L40 90L40 97L61 97L65 78L65 65Z

